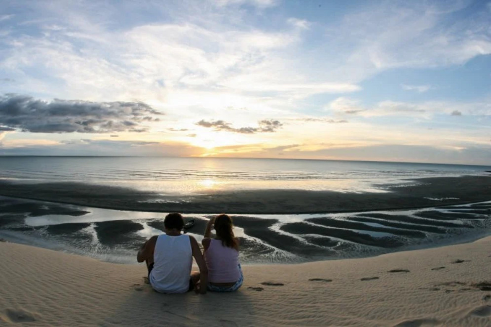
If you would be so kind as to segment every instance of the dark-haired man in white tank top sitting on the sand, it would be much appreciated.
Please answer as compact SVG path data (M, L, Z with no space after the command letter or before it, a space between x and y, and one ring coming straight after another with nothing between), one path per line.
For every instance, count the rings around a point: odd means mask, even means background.
M154 290L162 293L184 293L195 289L206 293L208 270L199 245L190 235L181 234L184 226L180 213L165 216L165 234L152 236L138 251L138 262L146 261L149 282ZM199 273L191 273L192 257L196 260ZM197 284L201 280L199 287Z

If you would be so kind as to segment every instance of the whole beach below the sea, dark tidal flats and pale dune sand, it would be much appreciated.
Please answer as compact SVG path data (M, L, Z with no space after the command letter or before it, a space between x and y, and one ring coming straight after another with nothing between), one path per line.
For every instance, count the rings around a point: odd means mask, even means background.
M384 178L373 191L185 195L3 179L0 326L490 326L491 176ZM145 284L136 252L172 211L198 241L210 217L230 214L237 292Z

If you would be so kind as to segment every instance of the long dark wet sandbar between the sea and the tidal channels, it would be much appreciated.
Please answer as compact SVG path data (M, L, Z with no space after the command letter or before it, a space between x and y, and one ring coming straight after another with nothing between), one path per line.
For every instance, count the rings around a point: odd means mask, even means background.
M191 196L162 196L123 187L74 182L19 184L0 181L0 196L113 210L202 214L348 213L417 209L491 200L491 176L429 177L407 181L417 184L403 187L400 184L378 185L386 188L387 193L238 190ZM443 200L436 202L428 198Z

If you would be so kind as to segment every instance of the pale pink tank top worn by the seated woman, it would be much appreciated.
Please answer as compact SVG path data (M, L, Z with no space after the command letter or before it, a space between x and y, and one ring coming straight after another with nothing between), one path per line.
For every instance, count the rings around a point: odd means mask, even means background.
M212 283L232 283L240 278L239 252L222 245L221 240L210 240L210 246L204 252L208 281Z

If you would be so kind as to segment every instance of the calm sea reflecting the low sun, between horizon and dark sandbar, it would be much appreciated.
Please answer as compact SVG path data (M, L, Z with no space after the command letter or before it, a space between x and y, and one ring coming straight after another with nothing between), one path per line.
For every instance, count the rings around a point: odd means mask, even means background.
M374 184L404 179L485 174L491 166L321 160L0 157L0 179L73 181L164 194L203 190L301 189L383 192Z

